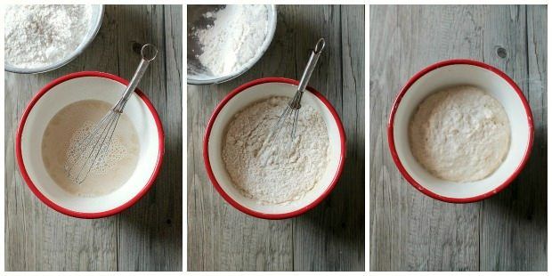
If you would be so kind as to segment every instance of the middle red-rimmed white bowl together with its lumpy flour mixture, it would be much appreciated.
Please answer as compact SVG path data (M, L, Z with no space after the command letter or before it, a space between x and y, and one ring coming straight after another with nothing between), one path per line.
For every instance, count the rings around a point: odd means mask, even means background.
M207 175L233 207L265 219L301 215L333 190L345 162L345 132L336 110L308 87L296 136L271 130L298 82L267 77L241 85L209 119Z

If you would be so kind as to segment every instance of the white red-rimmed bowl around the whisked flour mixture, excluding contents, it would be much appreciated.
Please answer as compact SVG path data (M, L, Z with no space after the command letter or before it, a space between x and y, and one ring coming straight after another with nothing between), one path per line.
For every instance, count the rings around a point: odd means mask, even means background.
M216 106L207 124L203 140L203 158L207 175L223 199L232 207L248 215L264 219L283 219L301 215L318 205L336 186L345 164L345 131L336 110L321 93L307 87L302 104L309 104L321 112L326 123L331 146L329 165L322 179L302 199L286 205L262 205L243 196L234 186L223 163L222 149L226 126L239 110L271 96L292 97L298 82L284 77L264 77L234 89Z

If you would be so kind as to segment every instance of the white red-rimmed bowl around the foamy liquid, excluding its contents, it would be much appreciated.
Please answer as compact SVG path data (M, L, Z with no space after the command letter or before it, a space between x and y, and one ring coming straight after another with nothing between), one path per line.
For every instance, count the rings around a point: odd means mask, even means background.
M118 190L97 197L79 197L62 190L45 169L41 143L50 119L76 101L101 100L115 103L128 81L108 73L84 71L54 79L28 103L15 139L15 156L20 173L31 191L48 207L79 218L115 215L134 205L149 191L163 159L163 126L150 100L139 89L126 103L125 113L140 142L140 156L134 173Z

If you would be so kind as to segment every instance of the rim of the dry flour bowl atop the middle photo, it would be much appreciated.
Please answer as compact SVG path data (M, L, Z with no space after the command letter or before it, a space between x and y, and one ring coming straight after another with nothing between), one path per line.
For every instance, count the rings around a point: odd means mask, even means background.
M268 50L270 45L272 44L272 39L274 39L274 34L276 33L276 27L278 26L278 12L276 11L276 4L266 4L271 7L271 10L269 11L274 20L272 20L272 24L268 28L268 33L266 34L266 37L264 37L263 45L261 45L260 48L260 54L252 59L253 62L251 62L248 66L243 66L238 71L235 71L231 74L228 74L226 76L221 77L213 77L213 78L194 78L194 77L187 77L187 83L189 85L217 85L222 84L223 82L227 82L231 79L234 79L236 77L239 77L243 75L245 72L247 72L249 69L252 69L257 61L260 61L264 53Z

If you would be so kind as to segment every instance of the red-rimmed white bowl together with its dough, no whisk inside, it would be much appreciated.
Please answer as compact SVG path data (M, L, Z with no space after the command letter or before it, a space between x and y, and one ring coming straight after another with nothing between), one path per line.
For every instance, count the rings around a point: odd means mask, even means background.
M441 61L402 88L387 139L395 165L418 191L474 202L502 191L522 171L532 150L532 111L499 69Z

